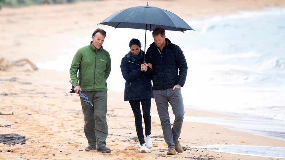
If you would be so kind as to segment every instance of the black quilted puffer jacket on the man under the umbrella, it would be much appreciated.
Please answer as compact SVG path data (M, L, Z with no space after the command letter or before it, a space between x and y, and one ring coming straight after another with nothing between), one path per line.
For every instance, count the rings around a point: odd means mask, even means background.
M157 90L173 88L177 84L183 87L187 76L188 67L182 50L168 38L165 41L162 51L152 43L145 54L146 62L152 64L153 89Z

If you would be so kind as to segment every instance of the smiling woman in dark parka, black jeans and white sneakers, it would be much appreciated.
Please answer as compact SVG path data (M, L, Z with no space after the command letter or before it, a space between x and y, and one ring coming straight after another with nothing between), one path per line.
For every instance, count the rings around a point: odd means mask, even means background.
M135 116L135 129L140 141L140 152L147 152L147 148L152 148L150 139L151 117L150 104L153 98L152 92L152 70L150 64L143 64L144 52L138 39L131 39L129 43L130 51L122 58L121 71L125 83L124 100L129 101ZM142 114L140 112L142 104L143 119L145 122L145 136L142 130ZM146 144L145 144L145 139Z

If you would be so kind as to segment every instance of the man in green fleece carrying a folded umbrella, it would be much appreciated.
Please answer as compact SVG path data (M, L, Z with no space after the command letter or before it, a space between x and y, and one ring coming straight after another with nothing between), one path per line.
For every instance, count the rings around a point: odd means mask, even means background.
M85 121L84 132L88 140L88 147L85 150L97 149L98 152L110 153L110 148L106 146L108 135L106 80L111 71L111 59L109 53L102 47L105 37L106 32L103 29L96 29L90 44L75 53L69 73L74 91L78 94L81 90L94 105L92 107L80 99Z

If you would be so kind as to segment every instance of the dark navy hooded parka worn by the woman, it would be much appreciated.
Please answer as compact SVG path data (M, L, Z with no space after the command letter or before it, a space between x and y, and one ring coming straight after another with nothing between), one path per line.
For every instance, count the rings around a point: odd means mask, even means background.
M144 54L144 52L142 52ZM140 64L137 64L128 57L128 54L122 58L121 71L125 83L125 101L151 99L153 98L152 92L152 70L147 67L147 71L140 71Z

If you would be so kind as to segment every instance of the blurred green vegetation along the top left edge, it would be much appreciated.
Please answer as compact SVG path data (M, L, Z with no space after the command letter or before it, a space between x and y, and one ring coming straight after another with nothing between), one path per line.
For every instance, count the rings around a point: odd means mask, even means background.
M30 5L42 5L42 4L73 3L75 1L87 1L87 0L0 0L0 9L2 6L20 7L20 6L30 6Z

